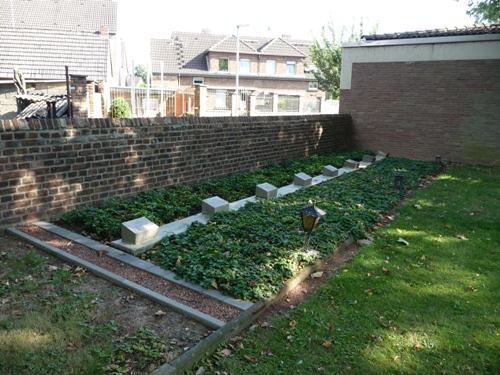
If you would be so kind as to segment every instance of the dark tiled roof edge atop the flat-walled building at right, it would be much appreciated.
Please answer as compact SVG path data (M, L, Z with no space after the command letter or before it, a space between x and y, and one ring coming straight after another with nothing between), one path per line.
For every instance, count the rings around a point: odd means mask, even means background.
M500 34L500 24L474 25L471 27L462 27L455 29L434 29L421 31L407 31L390 34L364 35L364 40L390 40L390 39L414 39L414 38L432 38L442 36L462 36L462 35L484 35Z

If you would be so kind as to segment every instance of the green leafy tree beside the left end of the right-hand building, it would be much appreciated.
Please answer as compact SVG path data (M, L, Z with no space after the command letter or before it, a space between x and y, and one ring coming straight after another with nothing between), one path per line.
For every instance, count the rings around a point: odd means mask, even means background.
M375 31L376 27L372 32ZM347 33L348 37L344 37ZM318 80L319 88L326 92L327 98L338 99L340 95L341 43L359 41L362 35L363 21L357 27L353 25L349 32L343 27L340 38L337 38L333 25L328 25L323 27L321 38L311 46L311 58L315 65L313 74Z

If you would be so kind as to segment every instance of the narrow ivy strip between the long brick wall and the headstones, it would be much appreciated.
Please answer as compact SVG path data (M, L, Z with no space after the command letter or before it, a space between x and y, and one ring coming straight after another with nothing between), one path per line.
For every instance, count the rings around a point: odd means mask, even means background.
M122 222L147 217L162 225L201 211L201 201L218 195L230 202L252 196L255 185L269 182L275 186L289 184L293 175L305 172L311 176L321 173L323 166L343 165L347 159L360 159L362 151L315 155L283 164L269 165L254 171L232 174L194 186L173 186L137 194L133 198L114 198L100 207L84 207L63 215L60 224L70 226L101 241L120 237Z

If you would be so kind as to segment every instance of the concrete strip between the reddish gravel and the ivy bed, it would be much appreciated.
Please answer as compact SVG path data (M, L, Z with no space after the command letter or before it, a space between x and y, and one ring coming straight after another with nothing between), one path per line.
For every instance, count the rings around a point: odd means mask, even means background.
M246 310L253 305L252 302L239 300L239 299L227 296L225 294L222 294L218 290L205 289L197 284L190 283L189 281L184 281L184 280L178 279L177 276L175 275L175 273L168 271L168 270L165 270L165 269L163 269L163 268L161 268L161 267L159 267L151 262L142 260L140 258L137 258L134 255L131 255L131 254L123 252L121 250L115 249L111 246L104 245L96 240L85 237L81 234L78 234L78 233L69 231L67 229L61 228L55 224L47 223L45 221L38 221L34 224L36 226L46 230L47 232L53 233L53 234L58 235L60 237L66 238L70 241L76 242L80 245L86 246L91 250L104 251L104 252L106 252L107 256L109 256L110 258L116 259L119 262L128 264L129 266L138 268L142 271L152 273L153 275L164 278L168 281L171 281L175 284L181 285L185 288L194 290L195 292L199 292L201 294L204 294L208 297L216 299L216 300L223 302L225 304L234 306L240 310Z

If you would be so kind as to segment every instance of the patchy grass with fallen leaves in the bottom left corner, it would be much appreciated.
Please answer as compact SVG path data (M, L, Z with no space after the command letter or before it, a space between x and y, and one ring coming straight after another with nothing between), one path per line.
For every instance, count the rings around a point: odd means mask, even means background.
M164 341L101 316L86 278L35 251L0 251L1 374L144 373L163 362Z

